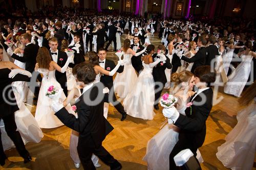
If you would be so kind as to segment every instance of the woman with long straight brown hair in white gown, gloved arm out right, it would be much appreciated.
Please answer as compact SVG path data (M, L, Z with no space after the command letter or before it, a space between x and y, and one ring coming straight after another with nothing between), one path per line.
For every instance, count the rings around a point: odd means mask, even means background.
M133 90L134 85L137 83L137 74L132 66L131 58L132 56L139 56L145 52L142 50L139 53L135 53L130 48L131 41L129 39L125 39L123 42L123 61L124 61L124 68L123 72L117 73L116 78L113 82L114 84L114 91L117 93L119 98L125 98L128 93ZM144 48L145 49L145 48ZM120 56L121 57L121 56Z

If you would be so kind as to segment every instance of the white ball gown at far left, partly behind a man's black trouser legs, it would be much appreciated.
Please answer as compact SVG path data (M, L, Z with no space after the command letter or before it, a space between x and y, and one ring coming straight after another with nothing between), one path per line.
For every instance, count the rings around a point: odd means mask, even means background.
M39 128L34 116L23 103L23 99L21 98L19 93L20 91L18 91L16 87L17 86L15 86L15 84L13 83L13 93L15 95L15 99L19 108L19 110L17 110L14 114L17 130L19 131L20 136L22 136L24 144L28 142L38 143L41 141L41 138L44 137L44 135L42 134L42 131ZM14 148L15 145L13 141L10 139L10 137L7 135L5 131L3 119L0 123L0 129L2 133L1 137L4 151L10 148Z

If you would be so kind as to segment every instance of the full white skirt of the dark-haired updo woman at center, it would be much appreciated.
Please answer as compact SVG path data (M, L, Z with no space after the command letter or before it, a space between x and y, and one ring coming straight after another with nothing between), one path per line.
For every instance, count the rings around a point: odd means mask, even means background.
M137 118L152 120L155 116L155 82L151 72L143 69L133 90L123 101L127 114Z

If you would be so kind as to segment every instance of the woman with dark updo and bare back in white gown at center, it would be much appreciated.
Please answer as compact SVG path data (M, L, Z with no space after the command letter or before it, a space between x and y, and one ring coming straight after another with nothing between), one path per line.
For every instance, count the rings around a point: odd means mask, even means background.
M153 67L161 60L153 62L152 55L155 53L155 46L150 44L146 47L141 71L137 83L133 90L126 96L123 101L124 110L130 116L152 120L155 116L155 82L152 76Z

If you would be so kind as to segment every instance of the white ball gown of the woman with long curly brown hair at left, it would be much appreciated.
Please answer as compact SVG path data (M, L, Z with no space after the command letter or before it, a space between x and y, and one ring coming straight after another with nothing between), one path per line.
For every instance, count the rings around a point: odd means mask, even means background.
M40 128L57 128L63 125L62 122L54 115L54 111L51 109L52 99L46 96L46 92L50 86L54 86L61 89L60 84L55 78L55 70L49 71L48 69L38 69L44 77L42 78L41 87L38 95L35 119ZM64 92L60 96L60 101L63 102L66 99ZM72 108L70 105L66 109L71 113Z

